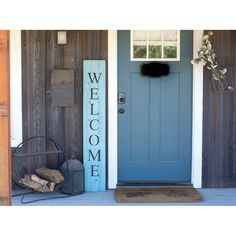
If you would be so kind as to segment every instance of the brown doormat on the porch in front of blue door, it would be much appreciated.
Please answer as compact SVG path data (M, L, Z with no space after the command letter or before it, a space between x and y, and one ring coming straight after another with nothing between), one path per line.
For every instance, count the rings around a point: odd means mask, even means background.
M190 187L117 188L117 202L201 202L202 198Z

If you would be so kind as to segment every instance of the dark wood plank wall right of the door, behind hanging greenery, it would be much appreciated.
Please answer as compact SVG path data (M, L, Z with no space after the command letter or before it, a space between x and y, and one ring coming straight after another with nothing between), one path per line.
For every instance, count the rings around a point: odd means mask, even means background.
M211 42L236 89L236 31L214 30ZM236 187L236 92L213 92L204 71L203 187Z

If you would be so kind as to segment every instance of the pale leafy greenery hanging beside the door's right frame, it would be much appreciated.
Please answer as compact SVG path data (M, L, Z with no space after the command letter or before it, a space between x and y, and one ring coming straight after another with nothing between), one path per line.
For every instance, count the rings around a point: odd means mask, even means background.
M230 91L233 92L234 88L229 85L226 77L227 69L220 69L216 61L216 54L212 49L210 36L213 35L212 31L202 37L202 46L198 51L198 57L191 61L192 64L202 63L211 73L213 88L216 92Z

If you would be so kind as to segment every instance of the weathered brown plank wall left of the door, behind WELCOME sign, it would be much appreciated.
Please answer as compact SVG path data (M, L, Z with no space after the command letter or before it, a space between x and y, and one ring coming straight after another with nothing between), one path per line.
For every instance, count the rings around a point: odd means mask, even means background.
M83 60L107 60L107 31L67 31L67 38L68 44L57 45L57 31L22 31L23 138L53 137L68 157L82 161ZM52 106L52 69L74 70L74 106ZM30 160L32 169L44 164L40 160ZM47 164L53 167L55 163Z

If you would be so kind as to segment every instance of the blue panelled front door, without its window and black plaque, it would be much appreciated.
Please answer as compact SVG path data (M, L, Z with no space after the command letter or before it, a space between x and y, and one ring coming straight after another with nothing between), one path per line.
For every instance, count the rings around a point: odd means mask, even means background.
M143 78L130 60L130 31L118 32L119 182L190 181L192 31L180 32L180 61L170 74Z

